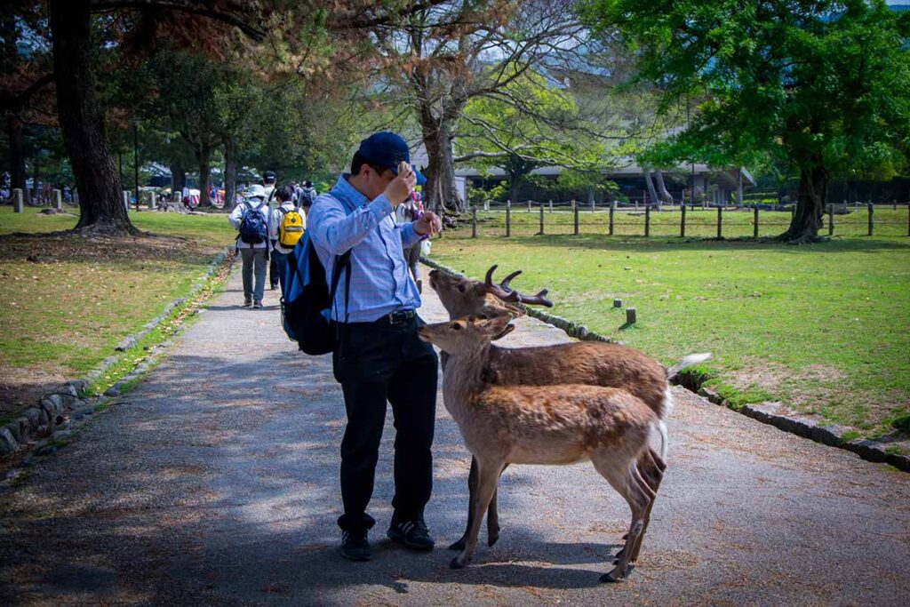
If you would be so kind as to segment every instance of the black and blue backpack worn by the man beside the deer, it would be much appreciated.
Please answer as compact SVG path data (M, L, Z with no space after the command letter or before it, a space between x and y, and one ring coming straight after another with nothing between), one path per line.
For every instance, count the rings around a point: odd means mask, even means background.
M348 212L348 207L342 203ZM288 338L311 356L328 354L339 339L338 323L332 319L335 293L341 271L345 271L345 311L350 295L350 250L335 257L331 288L326 270L319 261L316 247L309 239L309 230L300 237L294 250L288 253L287 291L281 298L281 324Z

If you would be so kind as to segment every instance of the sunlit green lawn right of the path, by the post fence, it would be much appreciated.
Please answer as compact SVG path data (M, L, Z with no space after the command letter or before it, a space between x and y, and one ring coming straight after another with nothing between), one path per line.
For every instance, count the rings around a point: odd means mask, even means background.
M716 217L716 211L709 213ZM885 220L905 222L906 213L876 209L875 218L882 219L885 232ZM571 214L563 215L571 232ZM493 263L500 264L500 276L521 268L524 274L514 286L527 292L550 288L554 314L665 364L711 351L706 369L714 376L711 383L734 403L781 400L865 436L906 423L910 238L904 236L905 224L902 230L888 226L892 236L835 236L793 247L751 239L610 238L603 236L605 216L590 212L579 237L551 236L549 230L547 236L531 236L539 216L512 215L521 216L525 228L516 230L513 222L512 234L524 236L502 238L501 213L481 215L480 238L470 238L470 222L462 224L434 242L433 258L474 278L482 278ZM679 219L678 212L654 214L652 228L654 216L671 225ZM728 213L725 223L733 227L734 218L751 221L749 214ZM837 217L835 226L846 231L857 219ZM751 235L751 224L743 221L740 230L746 229ZM854 233L864 230L865 224ZM638 323L631 329L621 329L624 312L612 308L613 298L637 309Z

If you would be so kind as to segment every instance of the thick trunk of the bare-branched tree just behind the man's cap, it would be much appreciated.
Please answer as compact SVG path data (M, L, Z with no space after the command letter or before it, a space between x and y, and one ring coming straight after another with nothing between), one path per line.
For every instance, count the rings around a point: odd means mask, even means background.
M429 112L428 112L429 114ZM455 187L455 161L452 156L451 132L454 126L445 118L421 119L423 145L430 164L427 167L427 208L442 216L450 211L463 211L464 201Z

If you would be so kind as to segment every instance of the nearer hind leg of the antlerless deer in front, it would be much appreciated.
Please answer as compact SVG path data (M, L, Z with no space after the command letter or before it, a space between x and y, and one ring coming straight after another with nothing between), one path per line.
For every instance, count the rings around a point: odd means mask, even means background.
M612 572L604 573L601 582L622 582L632 573L634 566L630 563L629 555L635 550L635 545L642 535L644 527L644 514L648 509L651 498L634 461L628 463L617 461L609 453L602 451L591 458L594 468L601 473L613 489L615 489L629 504L632 511L632 524L629 527L628 539L622 548L621 556Z

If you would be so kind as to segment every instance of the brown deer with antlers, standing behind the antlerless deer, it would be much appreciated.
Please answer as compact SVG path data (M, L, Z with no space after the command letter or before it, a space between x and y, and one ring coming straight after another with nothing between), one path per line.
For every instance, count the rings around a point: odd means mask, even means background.
M553 305L546 298L547 289L527 297L511 288L511 279L521 274L521 270L512 272L499 285L493 283L492 275L496 268L494 265L487 270L483 282L434 269L430 271L430 287L439 295L450 319L464 316L517 317L524 314L522 309L513 305L518 302L548 307ZM493 339L500 337L502 336L493 336ZM637 349L603 341L578 341L534 348L500 348L490 345L484 359L483 373L487 382L501 386L587 384L624 389L648 405L662 424L672 410L669 379L680 370L709 357L710 354L695 354L667 369ZM445 352L441 359L445 369ZM653 450L646 450L639 462L639 471L653 491L657 491L660 486L664 470L663 466L657 465L658 458L655 455ZM473 496L476 485L477 462L472 459L468 477L470 496ZM472 513L469 510L469 528L471 521ZM488 545L492 546L499 540L500 531L494 493L487 513ZM467 534L468 531L465 530L460 540L450 545L450 549L463 550Z

